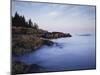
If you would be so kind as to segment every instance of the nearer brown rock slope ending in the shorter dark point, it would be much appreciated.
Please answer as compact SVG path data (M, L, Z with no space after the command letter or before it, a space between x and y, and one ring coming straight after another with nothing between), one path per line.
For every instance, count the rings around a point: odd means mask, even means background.
M34 35L13 35L12 53L20 56L36 51L43 45L52 46L53 42L46 39L35 37Z

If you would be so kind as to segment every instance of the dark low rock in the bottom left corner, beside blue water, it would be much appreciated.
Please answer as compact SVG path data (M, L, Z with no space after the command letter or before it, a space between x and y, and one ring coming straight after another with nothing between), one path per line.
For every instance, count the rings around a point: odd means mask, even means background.
M12 62L12 75L16 74L26 74L26 73L36 73L40 71L41 66L37 64L25 64L20 61Z

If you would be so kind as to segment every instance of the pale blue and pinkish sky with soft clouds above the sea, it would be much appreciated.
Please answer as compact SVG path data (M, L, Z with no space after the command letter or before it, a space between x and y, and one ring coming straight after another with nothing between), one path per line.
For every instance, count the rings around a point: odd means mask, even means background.
M12 16L16 11L51 32L95 32L95 6L13 1Z

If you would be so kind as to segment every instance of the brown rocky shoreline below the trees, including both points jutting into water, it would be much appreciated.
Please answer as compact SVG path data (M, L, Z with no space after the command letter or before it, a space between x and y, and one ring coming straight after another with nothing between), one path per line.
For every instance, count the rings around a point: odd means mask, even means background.
M42 29L12 27L12 53L23 55L37 50L43 45L52 46L50 39L71 37L62 32L47 32Z

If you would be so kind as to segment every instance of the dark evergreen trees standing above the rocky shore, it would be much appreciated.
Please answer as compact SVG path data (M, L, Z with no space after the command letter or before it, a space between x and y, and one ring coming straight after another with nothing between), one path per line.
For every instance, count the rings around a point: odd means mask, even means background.
M17 12L15 13L14 16L12 16L12 26L16 27L29 27L29 28L34 28L38 29L38 24L34 23L29 19L26 21L24 16L19 15Z

